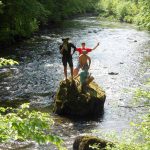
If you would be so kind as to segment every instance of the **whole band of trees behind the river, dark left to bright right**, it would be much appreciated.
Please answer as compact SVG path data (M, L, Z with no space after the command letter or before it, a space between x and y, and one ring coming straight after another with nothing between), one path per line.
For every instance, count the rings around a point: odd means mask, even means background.
M1 0L0 43L30 37L50 22L60 23L74 14L95 11L150 30L149 0Z

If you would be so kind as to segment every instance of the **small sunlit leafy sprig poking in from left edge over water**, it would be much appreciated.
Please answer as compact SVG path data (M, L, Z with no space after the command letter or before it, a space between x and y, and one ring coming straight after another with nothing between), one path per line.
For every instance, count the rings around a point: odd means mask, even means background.
M0 67L12 66L12 65L18 65L18 64L19 63L17 61L14 61L12 59L0 58Z

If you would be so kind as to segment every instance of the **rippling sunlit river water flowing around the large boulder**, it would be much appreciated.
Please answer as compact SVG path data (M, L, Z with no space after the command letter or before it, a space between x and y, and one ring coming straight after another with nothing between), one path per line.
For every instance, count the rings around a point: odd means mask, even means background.
M64 36L70 37L77 47L83 41L91 48L100 42L100 46L89 53L92 59L90 72L107 97L104 114L98 119L68 119L52 114L56 122L53 132L61 136L71 150L76 136L98 135L91 133L92 130L115 130L121 134L137 114L146 111L145 107L132 106L132 97L133 89L142 86L150 76L145 66L145 57L150 54L150 34L129 24L100 21L95 17L81 17L65 21L61 27L45 29L11 49L14 54L10 57L19 59L20 65L12 69L13 76L0 83L2 103L29 100L33 108L51 113L53 97L64 78L58 49ZM77 57L76 53L74 66ZM33 144L24 149L53 148Z

